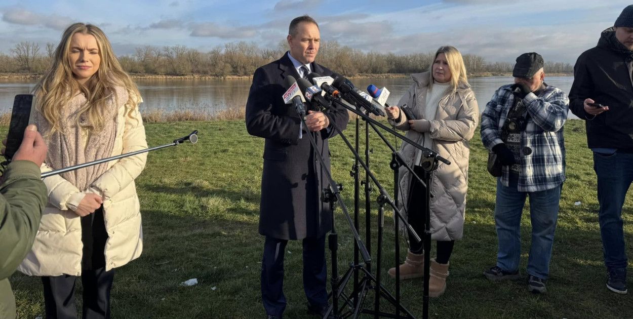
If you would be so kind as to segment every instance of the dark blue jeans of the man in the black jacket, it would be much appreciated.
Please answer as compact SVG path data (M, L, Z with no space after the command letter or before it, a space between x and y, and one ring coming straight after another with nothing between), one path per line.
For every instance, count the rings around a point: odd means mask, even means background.
M594 153L594 171L598 175L598 220L605 266L608 269L627 268L622 206L633 181L633 154Z

